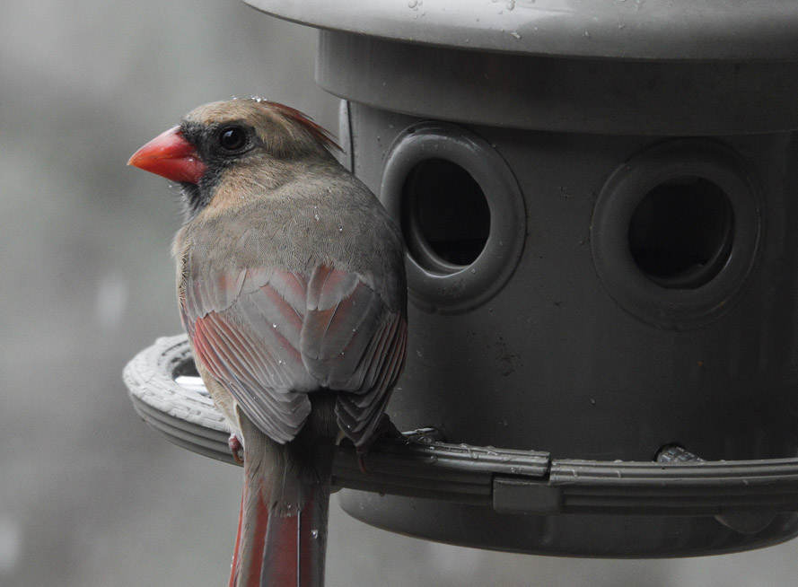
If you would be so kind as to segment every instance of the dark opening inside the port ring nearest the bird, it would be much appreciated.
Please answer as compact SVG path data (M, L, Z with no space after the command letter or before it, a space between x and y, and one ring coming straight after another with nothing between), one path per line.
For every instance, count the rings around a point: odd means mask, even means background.
M402 192L402 232L419 265L452 274L477 260L490 234L490 208L468 171L427 159L408 173Z

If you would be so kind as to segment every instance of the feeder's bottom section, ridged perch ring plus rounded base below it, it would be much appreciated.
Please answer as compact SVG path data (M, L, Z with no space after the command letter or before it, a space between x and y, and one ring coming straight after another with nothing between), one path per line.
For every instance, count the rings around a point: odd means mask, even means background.
M233 463L224 418L192 375L179 336L136 355L124 381L139 415L171 442ZM429 428L404 437L373 445L369 474L351 443L338 447L333 483L356 519L462 546L565 556L715 555L798 535L798 459L569 460L443 442Z

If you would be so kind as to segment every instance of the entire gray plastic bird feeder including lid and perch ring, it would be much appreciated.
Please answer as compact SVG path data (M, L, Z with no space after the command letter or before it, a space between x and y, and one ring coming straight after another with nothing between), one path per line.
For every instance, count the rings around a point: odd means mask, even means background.
M793 0L246 1L320 29L346 164L408 245L389 413L434 430L371 476L341 447L348 513L574 556L798 534ZM224 459L189 369L169 339L126 378Z

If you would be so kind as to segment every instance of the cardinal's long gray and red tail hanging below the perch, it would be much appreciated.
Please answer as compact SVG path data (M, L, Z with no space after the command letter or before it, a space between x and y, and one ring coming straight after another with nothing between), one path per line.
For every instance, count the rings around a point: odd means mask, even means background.
M244 494L230 587L324 585L334 400L323 422L311 417L285 444L242 418Z

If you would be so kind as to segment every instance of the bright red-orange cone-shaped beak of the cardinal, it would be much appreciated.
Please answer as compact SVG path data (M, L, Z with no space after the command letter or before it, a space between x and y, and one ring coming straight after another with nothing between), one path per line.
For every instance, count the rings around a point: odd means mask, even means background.
M128 165L150 171L170 181L199 183L207 166L199 160L197 149L172 127L140 148Z

